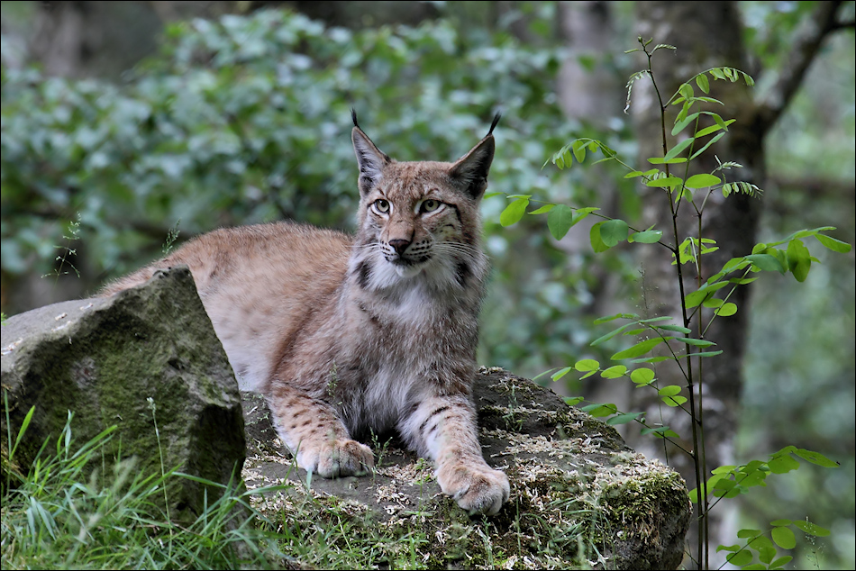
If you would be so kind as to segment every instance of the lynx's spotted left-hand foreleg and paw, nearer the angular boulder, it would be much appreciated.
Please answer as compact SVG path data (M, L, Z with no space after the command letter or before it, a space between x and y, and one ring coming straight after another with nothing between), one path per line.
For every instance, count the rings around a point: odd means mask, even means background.
M374 468L371 449L351 439L329 404L282 385L274 389L269 403L279 437L298 467L325 478L362 476Z

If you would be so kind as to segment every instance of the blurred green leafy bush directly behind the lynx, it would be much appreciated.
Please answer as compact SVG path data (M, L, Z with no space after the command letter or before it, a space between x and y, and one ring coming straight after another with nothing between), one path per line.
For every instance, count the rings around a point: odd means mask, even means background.
M574 126L552 90L558 65L558 51L503 32L465 37L447 21L352 32L261 11L173 25L161 53L118 86L3 68L2 269L57 272L71 222L79 248L60 263L81 268L90 291L159 256L179 221L179 240L281 218L347 229L351 107L399 160L455 159L501 110L490 191L567 200L577 175L540 169ZM544 248L554 242L500 231L503 206L483 207L496 264L483 358L573 357L579 323L555 318L573 303L565 291L585 291L585 273L533 267L533 253L560 259ZM509 297L522 312L502 311Z

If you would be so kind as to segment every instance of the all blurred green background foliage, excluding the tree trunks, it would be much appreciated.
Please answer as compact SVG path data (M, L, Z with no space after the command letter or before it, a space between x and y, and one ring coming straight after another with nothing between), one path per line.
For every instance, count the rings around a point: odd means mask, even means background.
M640 207L633 186L609 171L542 168L578 136L595 136L624 156L635 145L620 109L596 128L561 112L556 74L565 53L555 4L520 3L494 19L481 18L478 3L433 4L442 17L414 27L327 27L283 10L178 22L156 55L119 79L69 79L16 65L4 23L4 311L94 292L161 255L177 224L179 241L280 218L350 229L357 198L351 107L379 147L402 160L456 159L500 110L488 192L596 204L608 187L624 211ZM634 36L621 4L615 56L598 64L619 86L635 70L622 55ZM781 57L811 4L742 4L745 40L759 65ZM829 42L769 138L774 176L765 185L761 240L764 232L830 224L854 241L853 51L851 33ZM572 240L552 240L536 217L502 228L506 204L496 196L482 209L494 277L480 360L535 376L600 357L587 346L598 336L591 316L604 313L592 307L595 295L608 274L621 276L613 295L632 298L635 267L622 251L594 260ZM835 521L833 537L843 539L815 555L850 568L854 270L852 254L830 262L813 267L798 290L765 286L752 300L739 443L747 453L795 444L843 460L845 469L826 470L822 480L775 491L812 521ZM50 296L22 297L44 284ZM760 521L764 510L753 508Z

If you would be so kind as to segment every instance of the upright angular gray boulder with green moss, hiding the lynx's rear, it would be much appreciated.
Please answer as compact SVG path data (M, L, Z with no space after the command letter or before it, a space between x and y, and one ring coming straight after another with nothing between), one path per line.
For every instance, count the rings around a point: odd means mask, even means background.
M117 425L107 458L121 445L122 457L136 456L145 475L160 474L161 451L166 470L214 482L229 482L243 465L238 385L187 267L112 297L15 315L2 327L2 353L11 423L0 415L4 441L35 406L14 458L24 470L45 440L59 436L68 411L78 445ZM169 482L172 516L194 519L206 486ZM216 488L207 492L209 503L219 495Z

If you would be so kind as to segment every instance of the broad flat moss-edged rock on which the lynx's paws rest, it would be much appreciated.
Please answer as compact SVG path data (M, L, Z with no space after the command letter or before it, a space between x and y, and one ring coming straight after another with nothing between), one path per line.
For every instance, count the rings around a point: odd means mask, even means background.
M311 520L306 511L316 510L319 520L332 511L392 536L420 530L436 539L414 554L429 568L674 569L683 557L692 510L678 473L634 453L605 422L503 369L483 368L475 387L485 458L505 470L512 488L503 510L487 519L470 519L441 493L430 464L387 435L369 442L373 475L307 477L281 448L264 399L241 396L247 486L285 485L256 503L275 521Z

